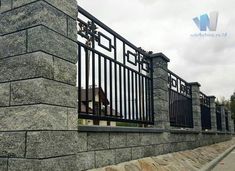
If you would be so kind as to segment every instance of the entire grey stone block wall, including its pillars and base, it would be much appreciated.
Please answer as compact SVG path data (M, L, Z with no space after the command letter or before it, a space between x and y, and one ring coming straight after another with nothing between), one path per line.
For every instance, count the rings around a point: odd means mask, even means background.
M152 128L78 126L76 0L0 0L0 170L86 170L231 138L169 124L167 63L153 56ZM212 101L213 102L213 101Z

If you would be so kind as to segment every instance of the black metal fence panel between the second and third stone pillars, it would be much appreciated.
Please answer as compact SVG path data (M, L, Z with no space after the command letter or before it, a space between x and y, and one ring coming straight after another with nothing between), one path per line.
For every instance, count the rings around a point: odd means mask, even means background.
M170 125L193 128L191 85L168 71L168 88Z

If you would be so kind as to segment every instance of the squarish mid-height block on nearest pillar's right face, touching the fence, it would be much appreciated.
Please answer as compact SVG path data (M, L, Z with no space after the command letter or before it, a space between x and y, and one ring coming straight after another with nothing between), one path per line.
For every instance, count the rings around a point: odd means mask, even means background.
M54 79L76 85L77 66L59 58L54 58Z

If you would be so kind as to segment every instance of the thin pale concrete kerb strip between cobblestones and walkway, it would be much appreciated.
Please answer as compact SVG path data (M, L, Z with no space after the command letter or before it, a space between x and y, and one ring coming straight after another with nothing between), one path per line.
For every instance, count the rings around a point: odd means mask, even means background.
M210 171L213 169L221 160L223 160L231 151L235 149L235 145L227 149L225 152L220 154L217 158L212 160L211 162L207 163L205 166L203 166L199 171Z

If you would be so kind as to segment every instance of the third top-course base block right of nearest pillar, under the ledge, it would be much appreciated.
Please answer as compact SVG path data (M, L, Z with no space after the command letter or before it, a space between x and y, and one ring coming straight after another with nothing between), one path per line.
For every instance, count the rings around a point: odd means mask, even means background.
M126 147L126 142L125 133L110 133L110 148Z

